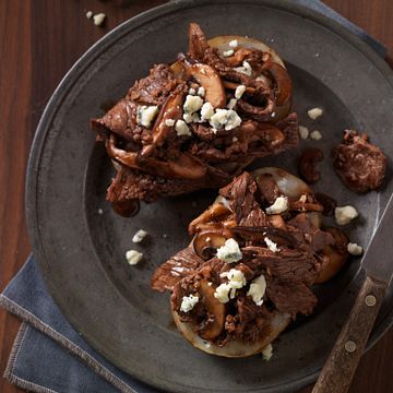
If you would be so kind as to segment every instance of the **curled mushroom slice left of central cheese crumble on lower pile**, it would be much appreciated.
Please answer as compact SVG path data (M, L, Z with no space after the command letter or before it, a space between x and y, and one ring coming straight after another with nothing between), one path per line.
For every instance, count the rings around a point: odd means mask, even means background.
M230 238L230 231L227 229L205 229L194 236L192 246L195 253L206 261L213 258L216 250L224 246L228 238Z

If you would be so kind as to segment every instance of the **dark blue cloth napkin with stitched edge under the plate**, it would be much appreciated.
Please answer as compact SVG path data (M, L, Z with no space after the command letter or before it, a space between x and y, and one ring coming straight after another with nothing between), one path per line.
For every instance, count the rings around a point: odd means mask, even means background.
M386 48L318 0L294 0L337 21L382 57ZM4 377L39 393L154 393L93 350L53 302L29 257L0 295L0 306L22 319Z

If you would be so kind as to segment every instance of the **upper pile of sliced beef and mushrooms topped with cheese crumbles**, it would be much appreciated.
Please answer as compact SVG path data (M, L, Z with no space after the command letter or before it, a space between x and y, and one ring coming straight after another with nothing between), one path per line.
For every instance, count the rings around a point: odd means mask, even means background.
M92 120L117 169L110 202L127 206L223 187L254 158L296 146L291 82L282 60L237 39L226 45L231 49L211 46L191 24L187 55L155 66Z

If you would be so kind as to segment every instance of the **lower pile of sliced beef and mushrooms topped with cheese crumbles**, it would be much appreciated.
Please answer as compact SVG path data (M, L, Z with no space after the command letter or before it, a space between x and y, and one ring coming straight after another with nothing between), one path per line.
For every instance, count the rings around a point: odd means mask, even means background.
M348 240L320 227L322 205L284 170L243 172L219 195L190 224L192 245L157 269L152 287L172 291L172 311L201 338L250 345L272 336L277 312L288 321L312 312L311 286L345 262Z

